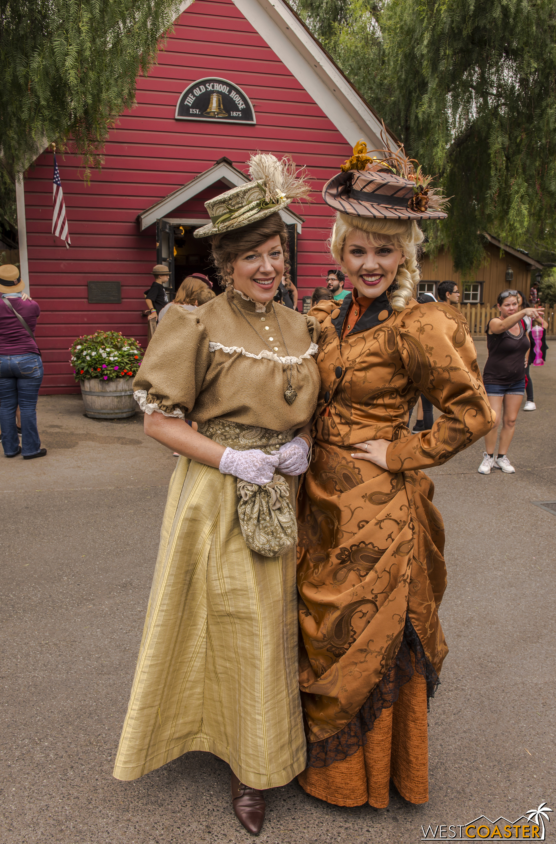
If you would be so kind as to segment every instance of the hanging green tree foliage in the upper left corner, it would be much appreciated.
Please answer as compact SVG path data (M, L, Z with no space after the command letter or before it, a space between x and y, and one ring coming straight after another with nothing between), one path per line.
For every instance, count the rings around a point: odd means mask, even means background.
M0 0L3 214L10 185L46 143L67 142L90 165L136 78L156 60L180 0Z

